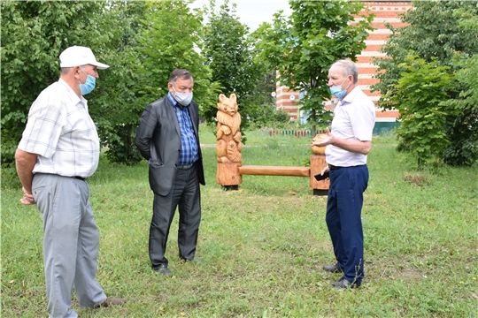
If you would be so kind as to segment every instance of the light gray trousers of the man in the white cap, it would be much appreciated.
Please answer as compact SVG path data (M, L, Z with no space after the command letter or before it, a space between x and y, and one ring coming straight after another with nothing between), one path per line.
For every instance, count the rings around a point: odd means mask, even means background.
M36 205L43 214L43 259L50 317L77 317L71 309L73 285L82 307L106 295L96 281L99 234L89 206L86 181L37 173Z

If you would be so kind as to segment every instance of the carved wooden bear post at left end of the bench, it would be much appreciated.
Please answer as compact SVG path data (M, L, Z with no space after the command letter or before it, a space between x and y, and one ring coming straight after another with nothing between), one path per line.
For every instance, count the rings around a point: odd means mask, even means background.
M243 163L241 150L241 115L237 112L235 94L228 98L219 95L218 102L218 132L216 134L218 153L217 183L222 186L237 186L243 182L238 168Z

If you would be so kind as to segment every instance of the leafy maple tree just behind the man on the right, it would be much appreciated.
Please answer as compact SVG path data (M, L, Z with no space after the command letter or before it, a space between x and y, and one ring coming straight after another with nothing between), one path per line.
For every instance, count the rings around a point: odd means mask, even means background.
M337 59L351 58L366 48L373 15L357 16L364 4L349 1L290 0L289 19L275 14L274 26L262 24L254 36L260 53L280 73L281 83L290 89L305 92L301 109L310 113L315 124L328 125L330 112L322 106L331 95L328 90L328 69Z

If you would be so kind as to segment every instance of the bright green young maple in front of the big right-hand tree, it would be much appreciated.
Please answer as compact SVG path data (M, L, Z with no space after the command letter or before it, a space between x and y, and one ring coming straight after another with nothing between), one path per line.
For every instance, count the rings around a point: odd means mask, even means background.
M457 114L443 105L450 94L453 76L449 66L427 63L415 57L405 58L398 65L404 71L393 95L385 95L400 112L402 125L397 129L402 148L410 151L421 163L435 162L450 140L445 133L446 118Z

